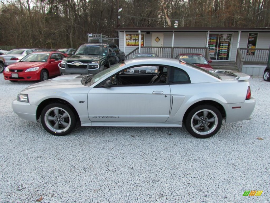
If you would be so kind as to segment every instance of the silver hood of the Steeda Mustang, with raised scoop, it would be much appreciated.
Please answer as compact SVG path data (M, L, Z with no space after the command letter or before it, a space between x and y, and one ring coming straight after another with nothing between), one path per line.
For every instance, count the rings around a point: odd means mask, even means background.
M40 92L68 91L70 93L87 93L91 87L82 85L82 75L64 75L56 78L45 80L40 83L32 84L26 87L21 93L23 94L40 94ZM74 91L72 91L73 89ZM49 91L48 91L49 90Z

